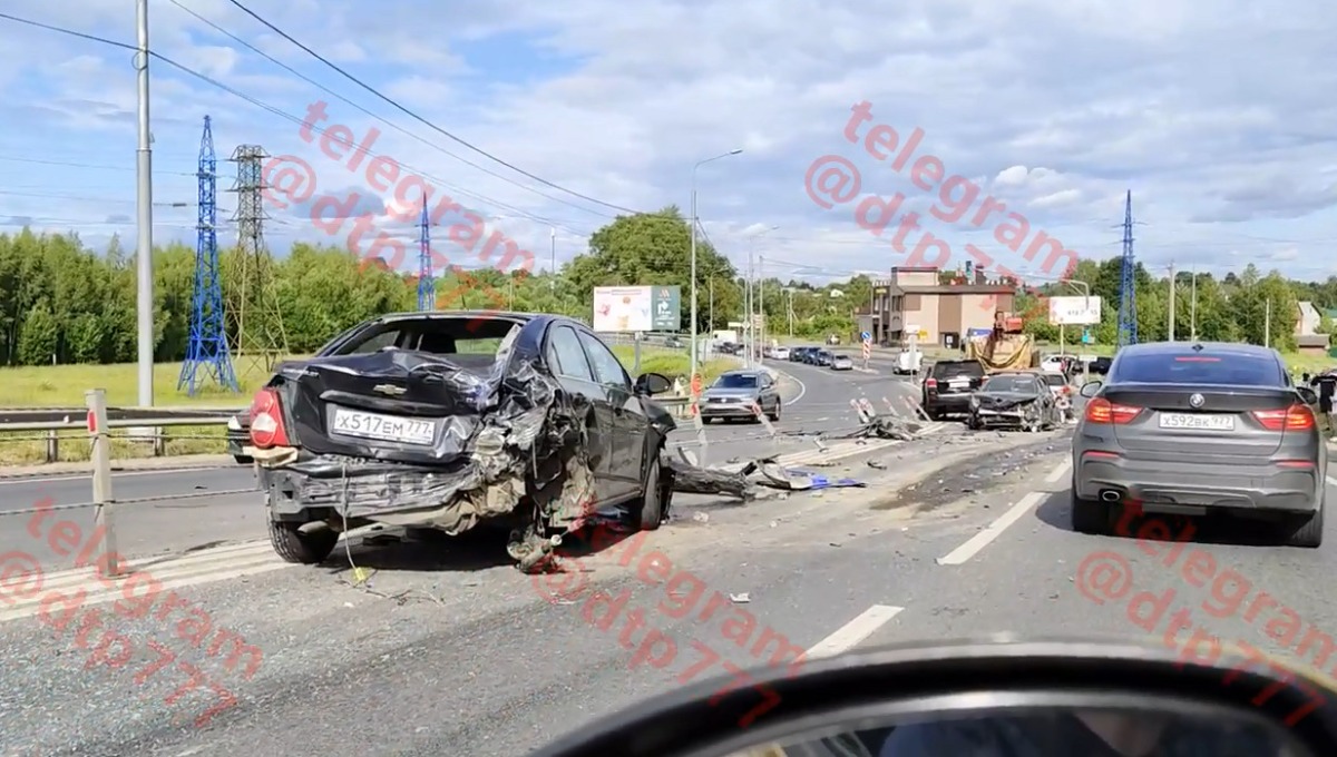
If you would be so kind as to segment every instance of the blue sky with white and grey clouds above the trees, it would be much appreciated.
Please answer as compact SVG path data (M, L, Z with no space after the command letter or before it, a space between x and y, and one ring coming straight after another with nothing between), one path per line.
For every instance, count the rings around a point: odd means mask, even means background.
M131 0L0 12L135 44ZM742 150L697 171L699 215L721 250L739 263L754 250L767 274L886 271L932 234L943 244L927 258L948 250L949 267L972 244L1043 276L1047 254L1023 255L1040 232L1082 256L1118 255L1130 190L1151 266L1337 274L1337 13L1318 0L150 0L150 15L159 242L194 240L209 115L223 243L238 144L310 167L316 196L269 208L278 252L346 240L352 222L312 220L325 194L356 195L325 218L372 214L366 240L410 238L402 206L417 186L396 199L393 180L368 178L376 156L431 184L443 224L459 220L453 204L476 211L547 267L554 234L560 263L619 212L686 211L693 166ZM132 51L4 19L0 49L0 230L132 244ZM303 139L318 100L330 138L380 132L356 170L320 131ZM862 101L872 117L852 142ZM866 147L874 130L886 160ZM844 159L844 178L824 156ZM814 202L822 188L848 202ZM904 244L902 215L880 235L856 220L860 203L897 194L900 214L920 216ZM1028 230L1013 248L995 232L1009 218Z

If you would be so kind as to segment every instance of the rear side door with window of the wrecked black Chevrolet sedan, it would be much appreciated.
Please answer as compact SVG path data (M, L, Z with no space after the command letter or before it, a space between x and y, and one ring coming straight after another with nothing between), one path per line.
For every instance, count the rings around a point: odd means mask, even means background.
M594 409L594 417L587 423L590 438L590 462L595 477L595 495L600 503L615 499L623 486L612 475L614 457L618 454L616 421L608 391L595 375L594 366L586 355L576 330L568 324L554 324L548 330L544 356L562 389L572 395L583 397Z

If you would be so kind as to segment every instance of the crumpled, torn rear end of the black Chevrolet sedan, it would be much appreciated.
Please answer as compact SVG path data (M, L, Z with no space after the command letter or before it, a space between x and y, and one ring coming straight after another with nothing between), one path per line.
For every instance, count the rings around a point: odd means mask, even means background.
M562 391L532 359L509 362L499 355L496 366L509 363L509 370L480 374L451 358L456 355L386 351L281 370L291 379L282 387L283 399L295 405L291 414L303 449L302 459L285 467L305 474L302 501L451 534L513 513L529 491L556 493L533 498L544 517L588 502L594 491L586 449L588 403ZM365 393L386 379L409 389L386 401L357 398L361 407L384 402L393 414L393 403L410 402L457 413L444 419L447 431L435 446L330 439L324 426L329 399L322 397Z

